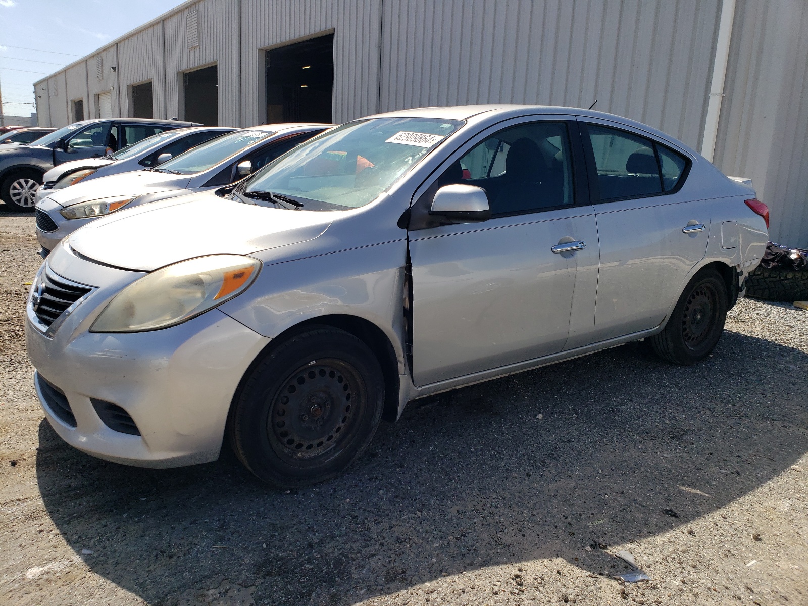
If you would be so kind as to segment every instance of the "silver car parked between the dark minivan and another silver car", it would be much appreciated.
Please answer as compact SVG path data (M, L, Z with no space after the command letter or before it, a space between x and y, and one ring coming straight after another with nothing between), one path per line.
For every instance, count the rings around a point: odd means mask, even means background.
M132 170L154 168L163 162L187 152L205 141L219 135L233 133L238 128L199 126L177 128L152 135L103 158L84 158L53 167L44 174L44 183L36 190L36 202L41 202L53 193L77 183L92 179L120 175Z

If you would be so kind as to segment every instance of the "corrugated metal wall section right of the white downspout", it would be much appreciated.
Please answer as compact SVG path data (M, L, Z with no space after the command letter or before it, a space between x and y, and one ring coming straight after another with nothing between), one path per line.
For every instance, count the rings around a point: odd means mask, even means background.
M713 162L750 177L771 209L769 236L808 247L808 8L740 0Z

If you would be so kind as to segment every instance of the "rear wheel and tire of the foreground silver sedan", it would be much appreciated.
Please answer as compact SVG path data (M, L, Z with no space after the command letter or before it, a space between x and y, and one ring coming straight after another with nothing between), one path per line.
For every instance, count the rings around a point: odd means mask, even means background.
M726 322L726 284L715 270L690 280L659 335L651 337L657 356L673 364L701 362L721 339Z

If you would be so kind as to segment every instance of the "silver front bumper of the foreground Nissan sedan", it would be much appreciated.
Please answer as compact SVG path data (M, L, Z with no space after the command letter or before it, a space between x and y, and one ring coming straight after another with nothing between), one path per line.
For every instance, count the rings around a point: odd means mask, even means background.
M65 312L52 336L38 326L30 297L27 302L28 357L53 429L83 452L127 465L176 467L217 459L238 383L270 339L219 309L163 330L91 333L90 325L121 284L143 274L65 259L65 248L57 251L62 263L56 264L75 271L64 276L52 268L53 273L84 284L90 284L86 276L98 276L103 284ZM72 422L48 383L61 392ZM140 435L107 426L97 412L99 402L124 409Z

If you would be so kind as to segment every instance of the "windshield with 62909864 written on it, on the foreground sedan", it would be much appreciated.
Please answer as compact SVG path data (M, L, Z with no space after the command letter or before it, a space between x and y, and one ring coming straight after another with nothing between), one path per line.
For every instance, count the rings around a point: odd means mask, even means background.
M359 208L375 200L462 124L437 118L349 122L292 149L235 193L250 202L279 206L286 202L306 210Z

